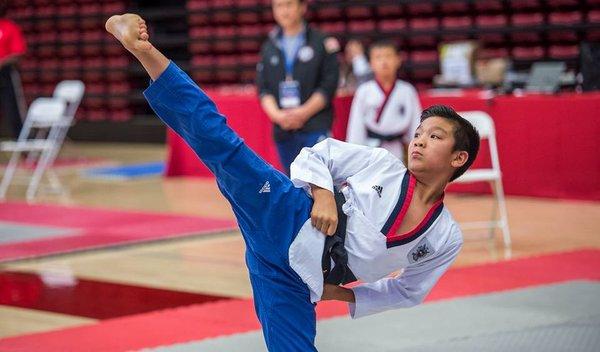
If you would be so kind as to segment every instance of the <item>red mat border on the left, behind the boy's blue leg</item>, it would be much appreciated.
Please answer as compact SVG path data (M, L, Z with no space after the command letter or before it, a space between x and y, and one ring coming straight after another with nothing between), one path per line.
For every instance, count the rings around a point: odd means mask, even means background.
M237 228L234 221L54 205L0 203L0 221L74 234L0 245L0 262Z

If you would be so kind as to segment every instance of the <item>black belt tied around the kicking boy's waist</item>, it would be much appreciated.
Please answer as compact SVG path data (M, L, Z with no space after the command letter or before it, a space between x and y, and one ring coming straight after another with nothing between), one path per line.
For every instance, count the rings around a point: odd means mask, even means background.
M333 236L325 237L325 248L321 266L323 268L323 280L326 284L345 285L356 281L356 277L348 267L348 253L344 247L346 239L346 225L348 216L342 211L346 202L342 192L335 192L335 204L338 212L338 226ZM331 268L331 260L335 265Z

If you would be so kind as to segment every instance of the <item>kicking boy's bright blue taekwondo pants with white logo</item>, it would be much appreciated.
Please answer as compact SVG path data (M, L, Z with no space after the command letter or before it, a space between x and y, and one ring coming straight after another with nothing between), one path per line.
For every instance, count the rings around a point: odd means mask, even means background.
M288 249L312 200L256 155L174 63L144 92L156 114L215 174L246 242L256 314L269 351L316 351L315 306Z

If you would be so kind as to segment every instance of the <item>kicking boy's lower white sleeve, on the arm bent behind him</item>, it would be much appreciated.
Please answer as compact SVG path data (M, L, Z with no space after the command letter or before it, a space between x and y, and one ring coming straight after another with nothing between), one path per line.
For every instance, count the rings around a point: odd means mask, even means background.
M409 266L398 278L385 278L352 288L356 303L349 304L350 315L356 319L420 304L454 262L461 247L462 241L453 242L438 256Z

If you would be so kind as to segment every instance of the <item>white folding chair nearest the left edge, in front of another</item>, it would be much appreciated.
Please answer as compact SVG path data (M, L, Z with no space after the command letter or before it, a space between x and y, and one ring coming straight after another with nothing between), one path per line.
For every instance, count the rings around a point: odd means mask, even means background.
M27 188L27 200L32 200L37 192L39 183L44 172L51 165L60 148L59 141L63 130L68 129L70 121L65 119L67 104L59 98L37 98L31 103L23 128L17 141L0 143L0 151L12 152L12 156L4 172L0 183L0 199L4 199L8 187L13 179L21 153L39 153L39 159L29 186ZM66 126L65 126L66 125ZM35 132L35 137L31 138ZM50 178L54 188L59 187L58 180Z

